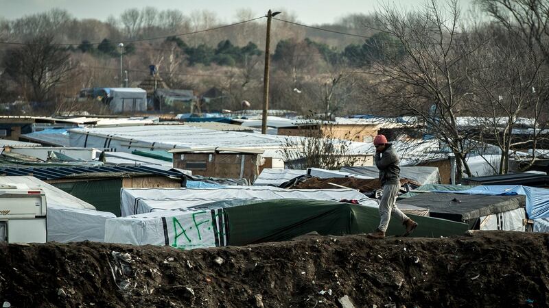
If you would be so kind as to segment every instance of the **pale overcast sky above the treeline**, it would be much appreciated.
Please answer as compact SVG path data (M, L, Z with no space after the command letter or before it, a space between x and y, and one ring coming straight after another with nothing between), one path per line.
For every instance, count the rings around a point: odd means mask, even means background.
M467 8L472 0L459 0ZM249 8L261 16L269 8L283 8L298 17L303 23L333 23L338 18L351 13L374 12L379 3L395 3L410 8L425 3L425 0L0 0L0 16L8 19L27 14L44 12L51 8L62 8L77 18L97 18L105 20L109 15L118 16L128 8L143 8L147 5L159 10L178 9L185 14L196 10L210 10L229 22L235 19L235 12Z

